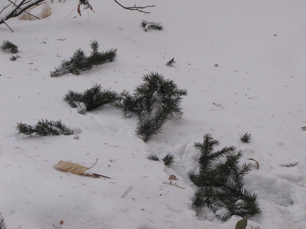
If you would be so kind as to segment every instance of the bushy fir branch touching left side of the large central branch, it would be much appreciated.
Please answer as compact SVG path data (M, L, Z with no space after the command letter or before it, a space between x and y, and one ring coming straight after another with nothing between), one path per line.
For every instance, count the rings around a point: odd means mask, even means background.
M86 89L83 93L78 93L69 90L64 96L70 107L77 108L78 113L85 114L86 111L92 111L97 107L106 104L112 104L118 97L115 91L102 91L102 86L99 84L93 85L90 89Z

